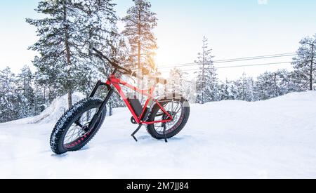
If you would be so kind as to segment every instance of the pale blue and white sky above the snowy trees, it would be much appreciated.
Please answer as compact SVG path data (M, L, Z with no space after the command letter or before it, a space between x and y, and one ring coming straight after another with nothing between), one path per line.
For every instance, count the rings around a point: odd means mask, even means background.
M192 62L202 46L202 36L209 38L214 60L242 58L276 53L292 53L303 36L316 33L316 1L290 0L210 1L153 0L152 11L159 23L154 30L159 44L159 65ZM0 68L10 66L15 72L22 65L32 65L36 53L27 46L36 40L34 27L25 18L37 18L34 8L38 0L0 1ZM124 16L132 5L129 0L115 0L117 13ZM266 62L287 62L291 58L235 62L245 65ZM218 65L218 66L220 66ZM242 72L257 76L266 70L289 67L246 67L220 69L221 79L235 79Z

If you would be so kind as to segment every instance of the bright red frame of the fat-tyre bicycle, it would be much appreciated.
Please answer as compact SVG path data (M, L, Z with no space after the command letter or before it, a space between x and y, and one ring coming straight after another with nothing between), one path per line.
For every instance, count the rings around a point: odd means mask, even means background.
M119 92L119 95L121 96L121 98L124 100L126 106L129 108L129 111L131 112L131 114L133 115L133 118L135 119L137 124L157 124L157 123L167 123L172 121L173 117L169 114L169 112L166 111L166 109L164 109L164 107L159 103L159 100L154 98L154 90L157 86L157 84L154 84L154 86L152 86L152 88L150 88L149 90L141 90L140 88L137 88L136 86L132 86L131 84L128 84L125 81L122 81L121 79L118 79L115 74L113 73L112 75L110 75L110 78L107 80L107 82L105 83L108 88L113 85L114 88L117 89L117 91ZM131 88L133 91L140 93L141 95L144 95L147 97L147 100L145 102L145 105L143 107L143 112L140 114L140 116L138 117L136 115L135 110L133 109L133 107L131 106L131 104L129 103L128 98L126 98L126 94L124 93L124 91L122 90L121 86L126 86L127 88ZM165 119L165 120L159 120L159 121L143 121L142 117L144 116L146 109L147 109L147 105L150 103L150 101L154 101L156 102L156 104L159 106L159 108L162 110L162 112L164 112L164 114L166 114L169 119Z

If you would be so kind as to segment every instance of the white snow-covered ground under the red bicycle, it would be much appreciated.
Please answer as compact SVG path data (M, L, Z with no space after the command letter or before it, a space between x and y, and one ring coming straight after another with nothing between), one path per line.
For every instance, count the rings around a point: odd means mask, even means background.
M129 112L114 109L86 148L62 156L48 115L0 124L0 178L316 178L316 92L192 105L167 144L145 129L135 142Z

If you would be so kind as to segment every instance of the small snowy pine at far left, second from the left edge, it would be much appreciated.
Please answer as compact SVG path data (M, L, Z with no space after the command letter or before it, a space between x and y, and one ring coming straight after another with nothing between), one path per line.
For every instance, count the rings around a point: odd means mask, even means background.
M33 86L33 74L28 66L24 66L17 76L18 95L20 98L19 114L20 117L34 116L34 89Z

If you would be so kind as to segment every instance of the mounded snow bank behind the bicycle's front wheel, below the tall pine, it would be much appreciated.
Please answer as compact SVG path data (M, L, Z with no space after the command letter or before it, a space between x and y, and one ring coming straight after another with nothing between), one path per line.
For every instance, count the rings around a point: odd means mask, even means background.
M27 122L27 124L56 123L58 119L62 116L62 114L64 114L68 109L67 98L68 95L56 98L55 100L53 100L51 105L49 105L49 107L47 107L39 116L25 119L25 121ZM79 102L84 98L85 96L82 93L72 94L73 103Z

